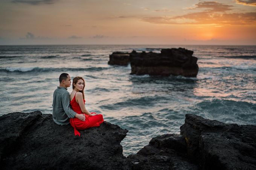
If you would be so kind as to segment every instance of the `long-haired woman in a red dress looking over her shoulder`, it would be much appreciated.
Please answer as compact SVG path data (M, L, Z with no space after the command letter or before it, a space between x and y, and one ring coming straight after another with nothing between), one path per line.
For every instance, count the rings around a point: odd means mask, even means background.
M75 77L73 79L72 88L73 91L70 94L70 105L72 109L78 114L84 114L85 120L80 120L78 118L70 118L70 124L74 128L75 136L80 136L78 130L85 130L90 127L98 127L104 120L101 114L94 115L85 109L84 100L84 79L82 77Z

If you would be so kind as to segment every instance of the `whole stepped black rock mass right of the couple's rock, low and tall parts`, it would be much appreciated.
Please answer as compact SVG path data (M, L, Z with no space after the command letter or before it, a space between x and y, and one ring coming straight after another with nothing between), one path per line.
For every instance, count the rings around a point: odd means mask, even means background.
M181 135L154 137L127 157L135 170L256 169L256 126L225 124L186 115Z

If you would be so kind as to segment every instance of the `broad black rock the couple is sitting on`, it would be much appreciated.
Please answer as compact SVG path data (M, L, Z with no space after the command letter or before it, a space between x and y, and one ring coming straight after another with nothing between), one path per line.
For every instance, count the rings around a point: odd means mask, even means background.
M120 142L128 130L107 122L74 136L40 111L0 117L0 169L128 169Z

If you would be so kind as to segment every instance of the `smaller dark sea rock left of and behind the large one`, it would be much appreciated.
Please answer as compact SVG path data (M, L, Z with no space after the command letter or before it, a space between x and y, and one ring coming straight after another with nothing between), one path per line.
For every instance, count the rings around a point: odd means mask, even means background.
M128 52L113 52L109 55L108 64L127 66L130 63L130 53Z

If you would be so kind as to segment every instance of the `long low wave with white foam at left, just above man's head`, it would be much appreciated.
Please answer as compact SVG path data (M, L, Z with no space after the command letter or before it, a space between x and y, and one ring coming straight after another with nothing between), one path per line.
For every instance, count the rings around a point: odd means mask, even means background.
M41 68L41 67L7 67L0 69L0 72L64 72L64 71L102 71L108 67L88 67L88 68Z

